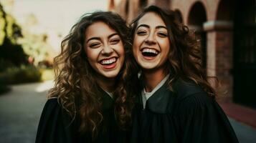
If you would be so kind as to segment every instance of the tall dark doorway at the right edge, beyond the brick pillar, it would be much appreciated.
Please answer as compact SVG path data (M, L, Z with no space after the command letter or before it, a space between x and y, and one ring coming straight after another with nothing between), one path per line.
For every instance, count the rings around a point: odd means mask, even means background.
M234 11L234 102L256 108L256 1L237 0Z

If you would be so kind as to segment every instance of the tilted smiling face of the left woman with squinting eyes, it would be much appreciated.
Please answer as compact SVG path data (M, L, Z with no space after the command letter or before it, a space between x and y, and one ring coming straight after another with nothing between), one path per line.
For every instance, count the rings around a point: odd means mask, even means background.
M85 31L85 54L95 71L106 78L115 78L124 62L124 47L118 33L102 21Z

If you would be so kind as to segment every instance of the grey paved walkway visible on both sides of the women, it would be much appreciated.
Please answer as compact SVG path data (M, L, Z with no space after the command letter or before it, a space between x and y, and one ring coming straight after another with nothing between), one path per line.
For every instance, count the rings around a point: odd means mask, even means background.
M12 86L0 95L0 142L34 142L39 117L52 81ZM240 143L254 143L256 129L230 119Z

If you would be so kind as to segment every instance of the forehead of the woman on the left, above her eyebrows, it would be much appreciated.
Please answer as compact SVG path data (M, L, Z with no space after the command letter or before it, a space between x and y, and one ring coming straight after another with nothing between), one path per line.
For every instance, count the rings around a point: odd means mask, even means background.
M108 24L105 24L103 21L97 21L87 27L85 30L85 38L88 39L93 36L104 37L114 33L116 33L116 31L108 26Z

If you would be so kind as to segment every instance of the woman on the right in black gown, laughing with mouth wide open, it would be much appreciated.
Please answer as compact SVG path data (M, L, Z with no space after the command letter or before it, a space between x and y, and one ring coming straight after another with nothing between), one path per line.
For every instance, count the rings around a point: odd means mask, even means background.
M147 7L131 36L141 71L131 142L237 142L207 82L199 42L174 11Z

